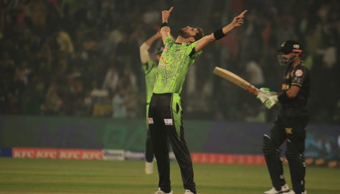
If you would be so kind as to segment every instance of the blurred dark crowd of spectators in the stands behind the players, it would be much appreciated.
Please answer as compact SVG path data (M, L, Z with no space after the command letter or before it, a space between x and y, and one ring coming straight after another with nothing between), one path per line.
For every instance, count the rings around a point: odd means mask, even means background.
M248 9L244 25L204 50L182 91L184 117L272 121L252 94L212 74L226 68L280 91L286 67L276 50L303 45L311 71L310 122L340 123L338 0L0 0L0 113L143 118L139 46L174 6L173 36L187 25L206 34ZM159 40L150 49L162 45Z

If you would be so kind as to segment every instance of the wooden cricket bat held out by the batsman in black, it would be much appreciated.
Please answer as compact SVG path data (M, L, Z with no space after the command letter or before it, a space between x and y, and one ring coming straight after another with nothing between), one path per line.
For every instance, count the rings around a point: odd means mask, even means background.
M222 69L221 67L215 67L214 74L234 83L235 85L238 85L239 87L247 90L250 93L253 93L257 96L257 93L259 92L258 88L256 88L254 85L250 84L248 81L243 80L238 75Z

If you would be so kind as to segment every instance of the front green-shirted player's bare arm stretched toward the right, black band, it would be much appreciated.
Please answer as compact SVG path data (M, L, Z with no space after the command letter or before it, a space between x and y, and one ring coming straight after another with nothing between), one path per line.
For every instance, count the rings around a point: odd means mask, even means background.
M208 46L210 43L223 38L228 32L241 26L243 24L244 14L247 13L247 11L248 10L245 10L240 15L234 17L233 21L230 24L198 40L196 43L195 52L199 52L200 50Z

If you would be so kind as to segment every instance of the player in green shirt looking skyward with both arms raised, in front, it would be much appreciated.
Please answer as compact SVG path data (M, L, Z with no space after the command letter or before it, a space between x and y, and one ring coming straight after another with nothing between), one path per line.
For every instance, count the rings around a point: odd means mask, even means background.
M196 194L192 162L184 138L180 93L187 70L202 54L202 49L242 25L246 11L234 17L229 25L207 36L203 36L200 28L189 26L181 28L176 41L173 41L170 38L168 26L168 18L172 9L171 7L170 10L162 11L163 23L160 33L164 51L158 64L148 118L159 175L158 191L155 194L172 194L167 139L170 140L181 170L185 194Z

